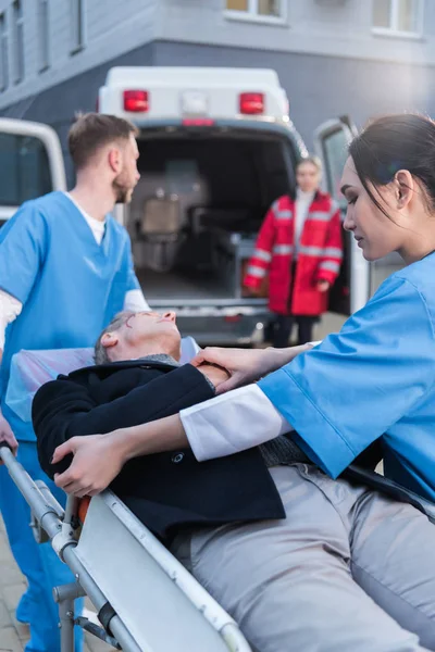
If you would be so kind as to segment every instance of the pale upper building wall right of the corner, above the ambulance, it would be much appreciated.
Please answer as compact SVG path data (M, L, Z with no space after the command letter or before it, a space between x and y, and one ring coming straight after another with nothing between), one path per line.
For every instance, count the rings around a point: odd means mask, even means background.
M435 63L435 2L423 0L421 34L398 36L372 29L372 0L284 0L282 23L229 16L224 0L161 0L156 38L276 52ZM237 12L236 12L237 13Z

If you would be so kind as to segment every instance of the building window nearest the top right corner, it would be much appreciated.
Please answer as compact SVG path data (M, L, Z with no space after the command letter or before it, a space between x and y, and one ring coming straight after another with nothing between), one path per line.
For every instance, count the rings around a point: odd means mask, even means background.
M420 36L424 0L373 0L373 32Z

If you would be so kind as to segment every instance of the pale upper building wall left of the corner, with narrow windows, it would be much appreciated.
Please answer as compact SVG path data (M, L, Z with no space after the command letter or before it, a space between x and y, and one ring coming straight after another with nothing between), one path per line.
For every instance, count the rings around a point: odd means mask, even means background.
M44 92L51 86L76 78L116 55L156 38L162 0L87 0L84 2L84 48L72 51L71 0L49 1L49 67L40 71L39 0L22 0L24 17L24 79L11 80L0 92L0 108ZM9 46L9 67L14 63L12 0L0 0Z

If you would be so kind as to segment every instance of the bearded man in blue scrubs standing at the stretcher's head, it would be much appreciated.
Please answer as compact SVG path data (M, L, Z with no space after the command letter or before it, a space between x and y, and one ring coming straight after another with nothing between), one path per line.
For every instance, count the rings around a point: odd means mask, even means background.
M18 460L35 479L44 476L35 435L4 402L12 355L21 349L92 346L117 312L148 309L133 269L128 235L110 215L115 203L130 201L139 179L135 136L134 125L120 117L79 116L69 134L74 189L24 203L0 230L0 440L13 447L15 435ZM50 488L57 489L51 481ZM49 543L36 544L27 504L4 467L0 507L12 552L28 581L16 612L30 626L26 652L58 652L52 587L72 576Z

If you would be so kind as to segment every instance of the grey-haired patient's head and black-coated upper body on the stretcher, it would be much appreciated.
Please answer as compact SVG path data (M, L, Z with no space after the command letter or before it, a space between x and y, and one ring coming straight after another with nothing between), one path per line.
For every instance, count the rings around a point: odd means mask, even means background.
M97 365L60 376L33 404L39 461L53 477L71 456L51 464L74 436L144 424L214 396L227 378L212 365L179 366L174 313L121 313L96 344ZM285 436L236 455L198 463L190 449L127 462L111 489L166 544L183 526L282 518L284 510L268 466L302 460ZM74 491L74 485L65 488ZM86 493L86 488L82 491Z

